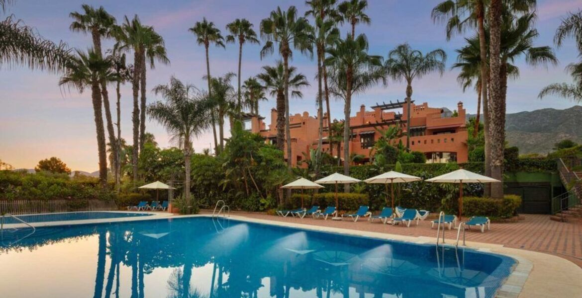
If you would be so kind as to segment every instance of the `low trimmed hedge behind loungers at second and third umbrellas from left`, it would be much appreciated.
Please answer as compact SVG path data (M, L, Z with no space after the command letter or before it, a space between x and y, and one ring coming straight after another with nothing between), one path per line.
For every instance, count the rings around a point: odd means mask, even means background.
M311 195L303 195L304 207L308 208L313 205L318 205L321 209L325 209L327 206L335 206L335 193L315 193ZM289 202L289 208L299 208L301 207L301 195L294 194L292 196L292 202ZM361 205L370 204L370 198L364 193L338 193L339 209L341 211L355 211Z

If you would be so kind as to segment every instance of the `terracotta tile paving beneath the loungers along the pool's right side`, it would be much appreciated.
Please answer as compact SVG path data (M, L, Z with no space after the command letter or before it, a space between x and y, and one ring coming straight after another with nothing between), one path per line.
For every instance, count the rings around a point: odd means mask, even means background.
M207 212L203 211L203 213ZM420 221L418 226L413 223L410 228L407 228L402 225L384 225L378 221L370 223L365 219L353 222L349 220L315 220L311 217L279 217L264 213L233 212L233 214L261 220L276 220L406 236L434 238L437 235L436 227L431 229L431 220ZM582 221L557 222L549 220L549 216L540 214L524 214L523 217L525 219L518 222L493 223L491 224L491 231L485 230L485 233L481 233L477 229L467 231L466 239L467 241L501 244L506 247L555 254L582 267ZM447 230L445 238L456 239L456 232L455 229Z

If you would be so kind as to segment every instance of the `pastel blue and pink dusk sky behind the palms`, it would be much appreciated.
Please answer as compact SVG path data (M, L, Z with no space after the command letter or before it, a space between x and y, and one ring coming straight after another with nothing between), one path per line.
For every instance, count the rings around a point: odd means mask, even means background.
M455 62L455 49L463 45L463 37L446 41L442 24L434 24L430 17L431 9L442 0L404 1L368 0L368 15L371 26L357 26L356 33L365 33L370 41L370 53L386 56L388 51L403 42L413 48L431 51L442 48L448 53L447 65ZM90 37L69 31L69 13L80 10L83 3L104 6L118 20L124 15L139 15L144 24L155 27L166 42L171 64L157 65L148 70L148 89L157 84L165 84L170 76L191 82L204 88L205 74L204 49L198 46L191 33L187 31L194 23L207 17L223 31L230 21L244 17L255 24L269 15L276 6L283 9L297 6L301 14L305 12L304 1L290 0L101 0L101 1L17 1L5 12L22 19L25 24L37 28L45 38L65 41L74 48L86 49L91 45ZM582 7L581 0L539 0L537 29L540 37L536 45L553 46L552 38L560 18L569 11ZM342 28L342 34L347 28ZM473 33L467 33L470 35ZM112 45L105 41L104 48ZM243 48L243 79L257 74L264 65L274 64L277 56L260 59L261 45L246 45ZM227 45L226 49L211 48L211 74L222 75L236 71L237 46ZM558 66L531 67L523 60L516 61L520 67L518 80L510 81L508 87L508 113L535 110L545 107L565 109L573 105L565 99L537 99L540 89L552 82L571 81L564 67L577 59L572 41L567 41L556 49L560 63ZM292 64L311 80L311 87L304 89L303 99L292 99L290 112L300 113L307 110L315 113L315 94L317 82L314 80L315 62L299 53L294 55ZM473 91L463 93L456 81L457 71L447 70L442 77L438 74L426 76L413 83L413 99L428 102L431 106L446 106L450 109L456 103L464 102L469 113L475 113L476 95ZM33 168L38 160L58 156L73 170L95 171L97 165L97 141L90 92L78 94L74 90L58 86L59 75L41 71L31 71L23 67L0 67L0 159L16 168ZM365 94L353 99L352 110L361 104L371 106L376 102L404 98L404 85L390 81L388 86L379 85ZM110 91L111 92L111 91ZM131 139L132 100L130 85L122 90L122 137ZM148 102L159 100L151 92ZM268 116L275 106L273 99L262 102L260 112ZM343 102L332 103L332 117L342 118ZM270 117L266 119L267 124ZM154 121L147 122L147 131L155 135L162 147L168 147L168 134ZM197 152L208 148L211 133L205 134L194 146Z

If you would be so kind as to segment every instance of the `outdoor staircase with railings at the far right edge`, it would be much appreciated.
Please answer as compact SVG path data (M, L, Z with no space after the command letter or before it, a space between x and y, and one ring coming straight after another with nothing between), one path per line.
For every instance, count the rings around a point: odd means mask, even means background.
M562 222L582 220L582 171L570 170L581 164L580 158L558 160L560 180L568 191L552 199L559 201L559 208L553 212L551 220Z

